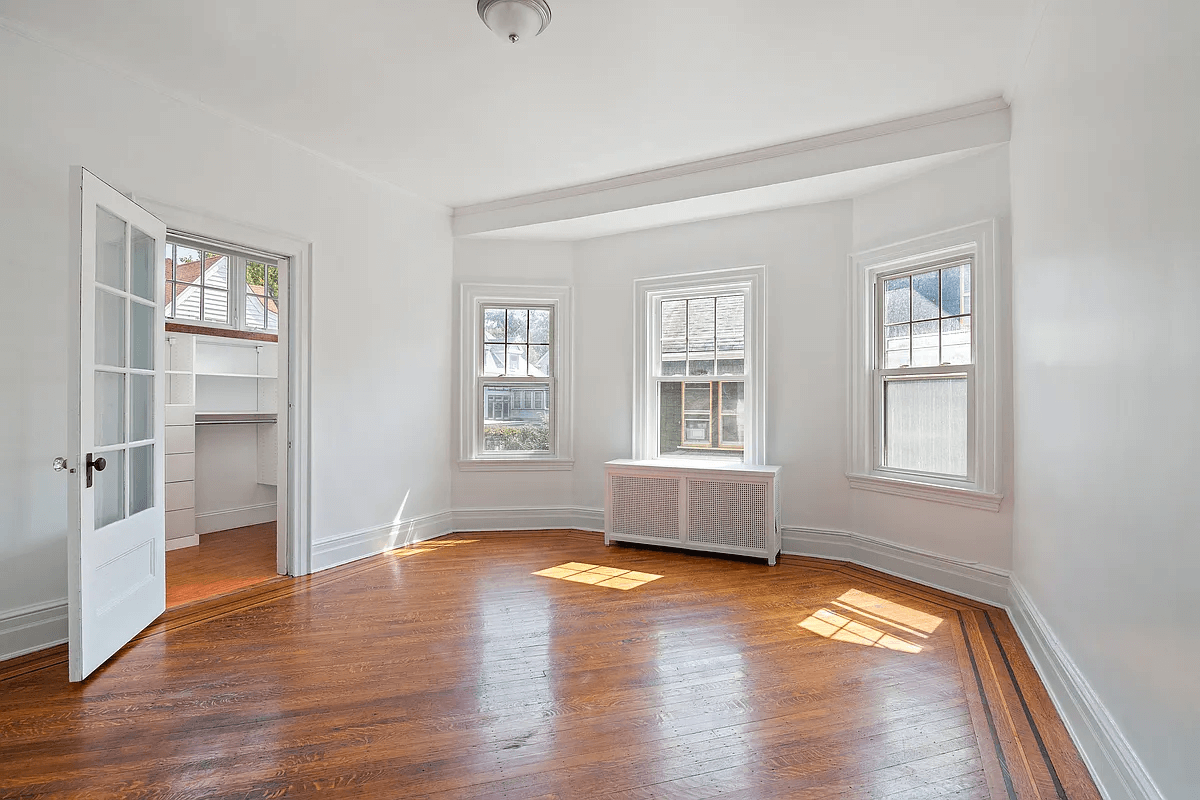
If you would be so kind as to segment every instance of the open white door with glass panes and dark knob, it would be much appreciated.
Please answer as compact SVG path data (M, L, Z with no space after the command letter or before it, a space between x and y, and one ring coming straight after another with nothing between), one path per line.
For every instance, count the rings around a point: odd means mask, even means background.
M166 608L167 228L83 168L71 181L67 609L83 680Z

